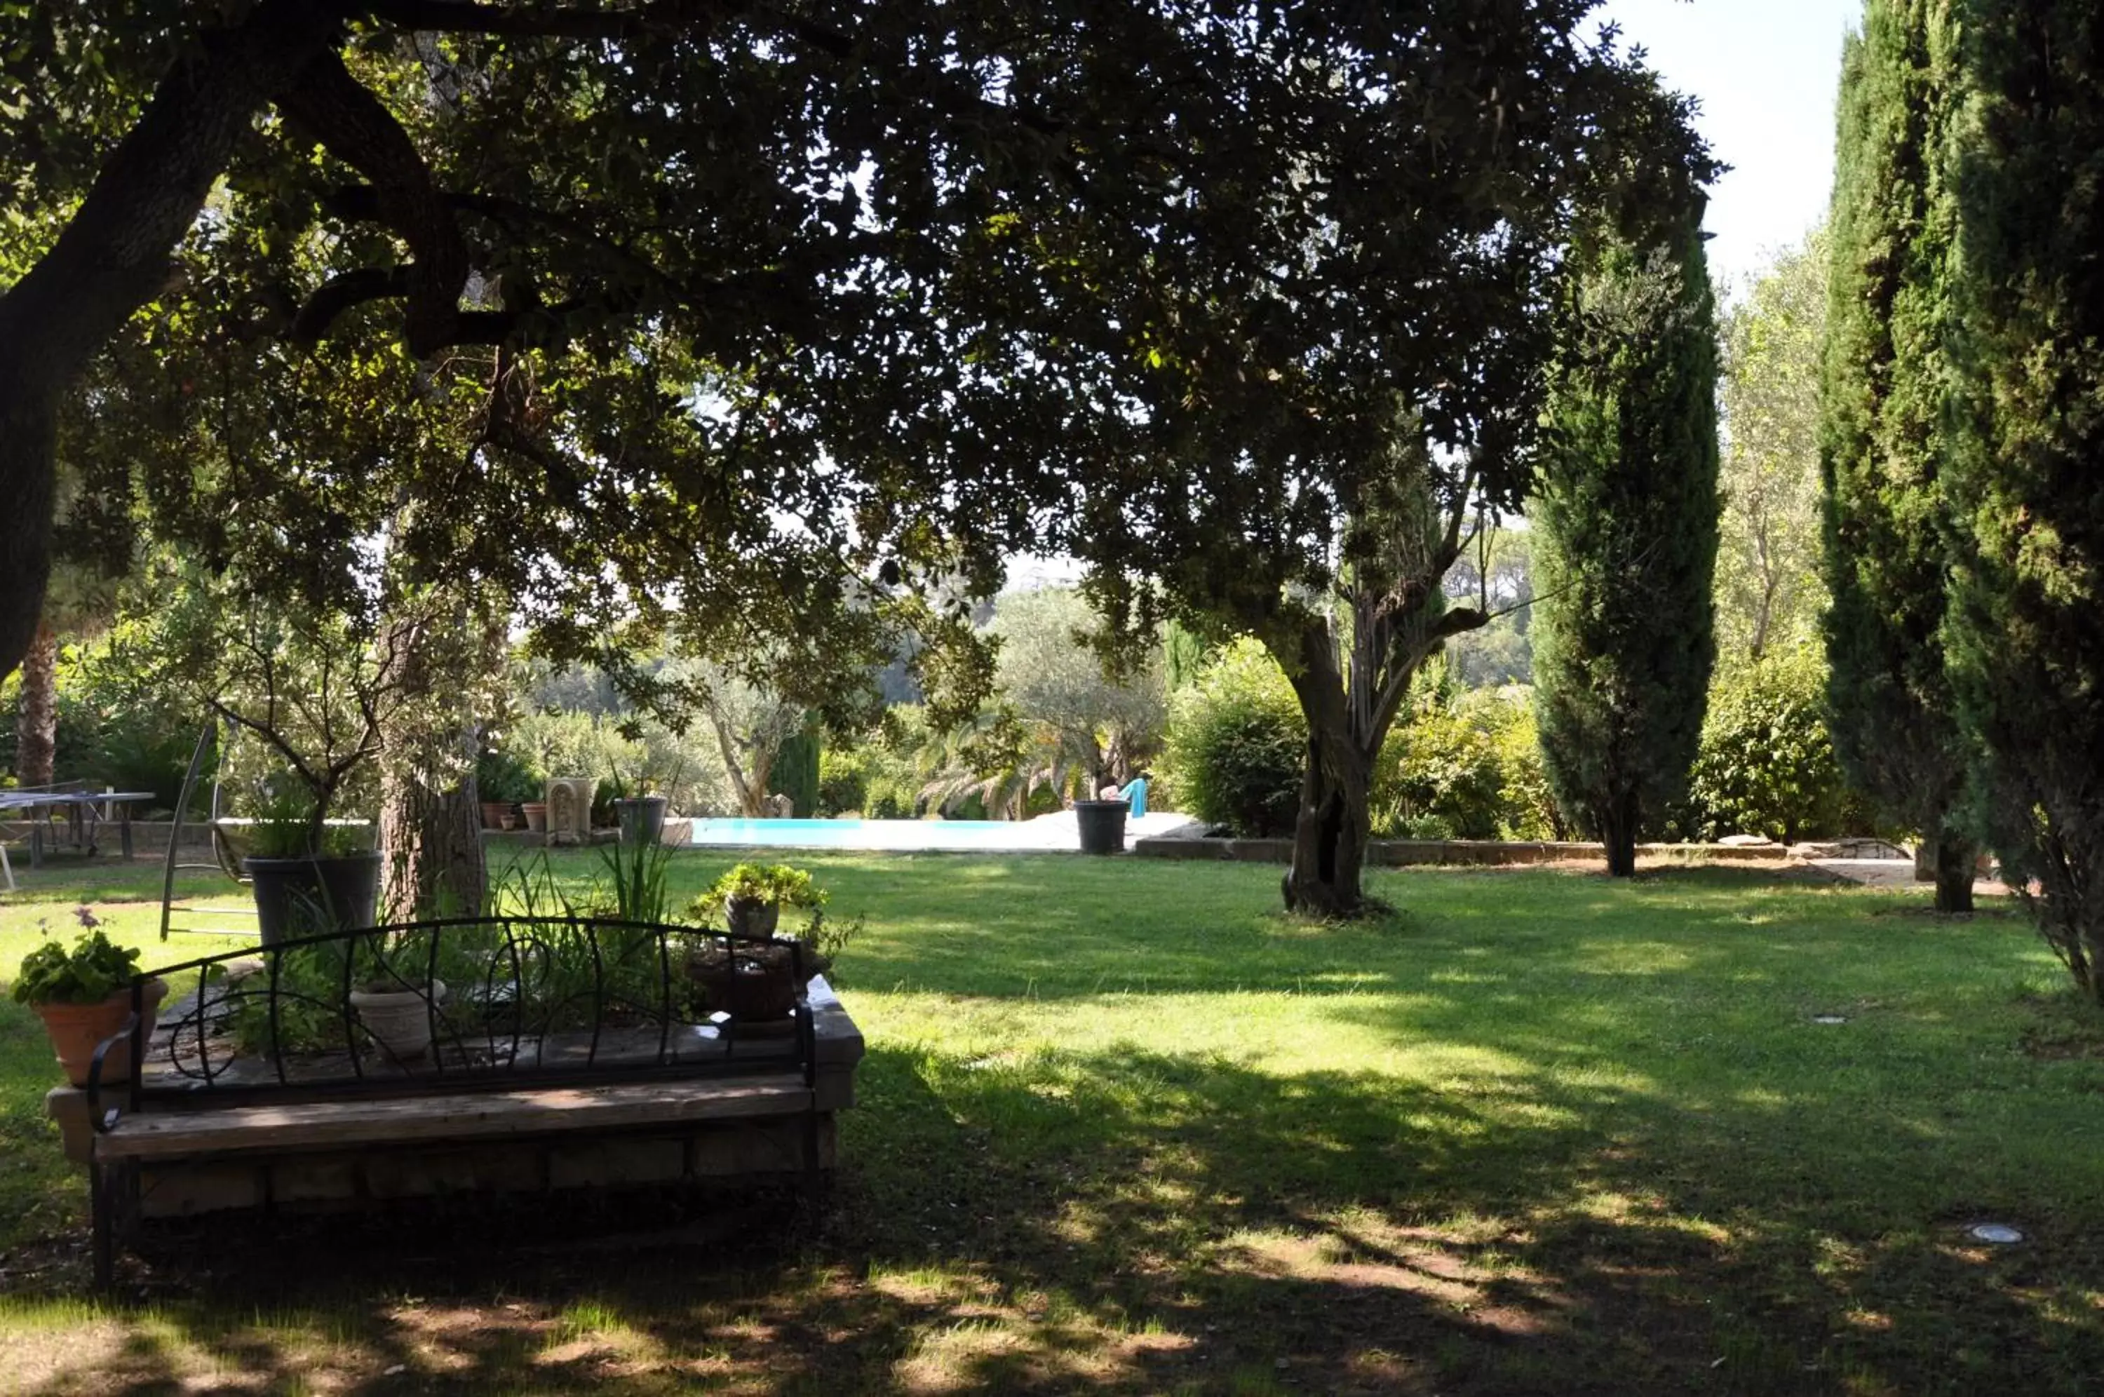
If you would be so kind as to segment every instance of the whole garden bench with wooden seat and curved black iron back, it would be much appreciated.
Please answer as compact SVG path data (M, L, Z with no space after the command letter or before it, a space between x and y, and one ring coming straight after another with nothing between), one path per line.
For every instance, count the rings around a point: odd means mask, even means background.
M680 976L696 945L793 961L791 1016L753 1025L707 1012ZM313 964L372 947L398 964L457 966L465 955L501 974L463 985L459 997L425 999L433 1041L414 1060L396 1060L351 1008L324 1014L326 1033L311 1027L311 1010L332 1001L316 993ZM223 972L238 961L255 964L229 980ZM816 1193L831 1113L852 1102L863 1044L825 980L804 985L800 961L785 943L701 928L484 917L337 932L147 972L139 985L198 972L200 989L162 1012L151 1033L105 1041L88 1086L50 1098L61 1126L69 1115L84 1126L67 1130L67 1145L88 1166L97 1283L114 1275L120 1231L141 1216L147 1176L162 1187L236 1170L257 1187L208 1206L274 1206L274 1180L301 1166L353 1172L349 1197L358 1197L377 1155L541 1151L539 1187L553 1187L547 1151L568 1140L583 1149L677 1142L680 1174L694 1176L703 1172L696 1140L736 1123L772 1132L768 1157L793 1155L791 1172ZM551 964L591 966L591 978L570 997L551 997L541 976ZM654 978L640 976L648 966ZM286 1025L303 1006L309 1031L297 1039ZM267 1052L236 1050L242 1016L250 1029L271 1025ZM105 1086L126 1056L130 1079ZM431 1191L442 1187L450 1185Z

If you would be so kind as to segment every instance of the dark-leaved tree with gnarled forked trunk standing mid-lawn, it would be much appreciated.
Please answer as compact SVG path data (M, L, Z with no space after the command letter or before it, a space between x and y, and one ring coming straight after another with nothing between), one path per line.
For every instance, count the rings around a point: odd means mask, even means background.
M1290 675L1294 909L1365 905L1382 741L1427 656L1485 623L1441 579L1532 482L1574 221L1711 168L1685 105L1582 32L1591 11L1357 13L1286 67L1248 175L1115 276L1092 267L1132 349L1100 389L1124 431L1094 440L1121 450L1092 465L1071 549L1119 627L1250 633Z

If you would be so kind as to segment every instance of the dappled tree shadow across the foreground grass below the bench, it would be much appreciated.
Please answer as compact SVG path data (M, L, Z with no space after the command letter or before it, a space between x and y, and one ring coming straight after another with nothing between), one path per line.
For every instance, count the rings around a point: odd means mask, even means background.
M701 1189L217 1220L25 1386L2049 1393L2104 1357L2070 1304L2093 1237L1835 1250L1782 1199L1704 1216L1660 1140L1603 1130L1624 1088L1113 1046L879 1048L861 1090L816 1218Z

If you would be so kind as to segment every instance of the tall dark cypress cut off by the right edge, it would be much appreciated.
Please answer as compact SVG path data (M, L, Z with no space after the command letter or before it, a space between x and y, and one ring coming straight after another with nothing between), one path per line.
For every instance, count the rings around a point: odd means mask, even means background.
M1955 126L1967 545L1946 619L2011 886L2104 1001L2104 15L1961 0ZM2032 882L2035 879L2035 882Z

